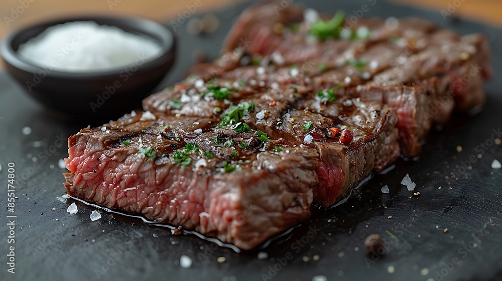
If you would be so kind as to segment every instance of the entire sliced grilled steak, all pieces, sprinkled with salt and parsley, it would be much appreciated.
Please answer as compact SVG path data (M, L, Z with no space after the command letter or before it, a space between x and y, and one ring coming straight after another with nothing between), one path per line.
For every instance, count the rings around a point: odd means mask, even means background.
M484 101L483 36L360 19L337 29L345 39L317 40L309 17L251 8L220 59L146 98L143 112L71 136L68 193L251 249Z

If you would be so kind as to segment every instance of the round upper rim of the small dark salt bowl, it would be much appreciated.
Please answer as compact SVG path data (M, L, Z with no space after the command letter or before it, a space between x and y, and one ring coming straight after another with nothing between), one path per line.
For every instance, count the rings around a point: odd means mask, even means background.
M37 28L44 28L44 31L52 26L56 26L59 24L64 24L64 23L69 23L69 22L76 22L76 21L94 21L94 22L100 22L100 21L117 21L115 24L100 24L100 25L109 25L109 26L115 26L118 27L119 29L124 30L124 24L123 23L128 23L129 24L134 24L136 23L146 23L149 25L155 26L155 29L149 30L150 34L156 34L162 38L162 41L159 41L155 38L153 38L155 41L159 42L162 48L162 53L160 56L156 56L154 59L151 60L146 60L144 64L137 66L138 69L153 69L157 67L158 65L164 63L166 61L166 57L174 55L174 50L175 50L175 42L176 42L176 37L174 36L174 33L165 25L148 19L148 18L143 18L143 17L138 17L138 16L127 16L127 15L79 15L79 16L73 16L73 17L63 17L55 20L50 20L50 21L44 21L40 22L38 24L34 25L29 25L20 29L16 29L11 31L10 33L7 34L7 36L2 40L0 43L0 55L6 62L6 64L11 65L14 68L20 69L25 72L29 73L40 73L40 72L46 72L46 76L50 76L52 78L69 78L69 79L93 79L93 78L103 78L106 76L116 76L120 72L123 71L124 68L127 68L127 66L119 67L119 68L113 68L109 70L96 70L96 71L89 71L89 72L71 72L71 71L62 71L62 70L55 70L55 69L47 69L42 66L38 66L36 64L33 64L29 61L24 60L18 55L18 52L14 50L12 47L12 42L15 38L18 36L22 35L23 33L31 30L31 29L37 29ZM99 23L98 23L99 24ZM141 30L141 29L140 29ZM143 29L144 30L144 29ZM124 30L126 32L131 32ZM162 32L159 32L162 31ZM152 38L148 33L145 33L143 31L136 32L139 34L143 34L144 36L148 36ZM34 38L34 37L32 37ZM30 38L30 39L32 39ZM30 40L28 39L28 40ZM48 71L49 70L49 71Z

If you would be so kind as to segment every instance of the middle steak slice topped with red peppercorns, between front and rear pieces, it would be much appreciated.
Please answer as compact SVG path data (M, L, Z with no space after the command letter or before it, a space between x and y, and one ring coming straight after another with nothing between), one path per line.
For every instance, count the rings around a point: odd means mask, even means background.
M234 84L225 79L218 79L213 83ZM187 103L183 108L200 108L200 103L214 102L197 98L200 93L206 91L204 87L190 87L187 86L181 91L156 94L158 96L154 95L146 100L145 109L169 114L178 112L155 107L155 102L152 101L177 98L180 94L185 94L184 92L191 98L186 98ZM273 139L284 139L317 150L320 155L319 168L316 170L319 187L314 193L319 194L316 202L323 207L332 205L346 195L351 187L372 170L381 171L400 156L398 130L395 128L397 115L389 106L382 105L379 101L351 99L344 95L334 96L333 93L332 99L336 99L336 102L332 102L301 86L258 88L254 94L251 93L250 86L241 87L246 90L235 89L232 98L238 97L239 103L255 105L255 110L242 118L251 128L264 131ZM194 90L190 91L191 89ZM220 109L227 109L229 106L228 102L225 104L222 101L219 101L218 105ZM185 113L196 112L198 111ZM228 110L222 114L227 112ZM205 115L207 114L204 113ZM312 125L305 129L304 126L309 122ZM354 137L353 142L348 146L340 144L337 135L331 137L329 134L329 128L333 127L350 130ZM304 137L309 134L312 140L305 143ZM320 192L316 192L317 190Z

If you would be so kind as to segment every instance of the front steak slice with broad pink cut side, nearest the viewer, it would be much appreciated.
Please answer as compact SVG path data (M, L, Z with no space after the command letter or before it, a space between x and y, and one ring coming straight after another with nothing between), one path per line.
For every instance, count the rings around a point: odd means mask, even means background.
M148 112L127 114L104 130L82 129L68 140L68 194L241 249L256 247L306 219L312 187L318 183L317 152L284 144L277 144L280 152L270 146L259 150L253 140L245 149L218 146L215 137L256 135L212 130L215 121ZM193 133L197 129L203 132ZM177 163L175 155L182 160Z

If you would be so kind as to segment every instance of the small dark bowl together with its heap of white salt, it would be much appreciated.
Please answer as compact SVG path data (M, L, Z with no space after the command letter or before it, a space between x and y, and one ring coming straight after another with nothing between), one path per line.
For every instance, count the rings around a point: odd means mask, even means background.
M82 36L76 34L34 46L33 41L41 34L44 37L48 28L73 22L117 27L128 33L129 41L122 41L127 48L117 47L116 42L113 45L102 32L93 33L101 29L95 27L80 29L91 42L81 43ZM120 32L110 31L109 38L121 37ZM57 48L59 45L61 48ZM55 49L53 53L51 49ZM167 27L147 19L123 17L80 17L43 23L10 33L0 45L7 70L30 96L58 117L84 123L102 122L141 107L141 100L173 65L175 51L175 37ZM131 57L134 52L138 53L136 58ZM103 63L103 59L109 61Z

